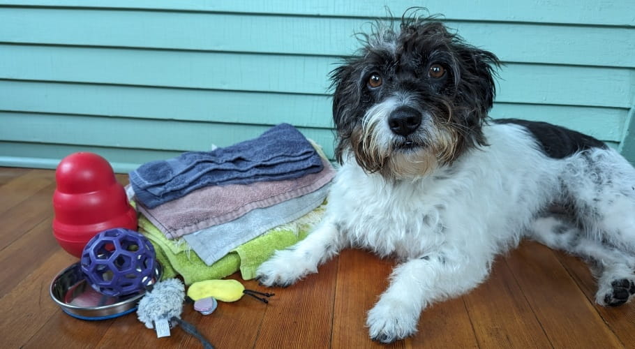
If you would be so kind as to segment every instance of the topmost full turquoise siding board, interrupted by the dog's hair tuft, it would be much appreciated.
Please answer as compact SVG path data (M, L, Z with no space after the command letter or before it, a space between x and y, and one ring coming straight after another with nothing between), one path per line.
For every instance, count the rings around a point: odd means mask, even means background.
M635 67L635 28L447 24L504 61ZM357 48L352 34L360 30L370 31L367 20L0 8L0 42L4 43L345 56Z

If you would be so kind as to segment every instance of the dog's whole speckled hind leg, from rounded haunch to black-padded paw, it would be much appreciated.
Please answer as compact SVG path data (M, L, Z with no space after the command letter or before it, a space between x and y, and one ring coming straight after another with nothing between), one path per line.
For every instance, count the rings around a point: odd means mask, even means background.
M583 151L567 162L560 200L576 225L538 218L535 238L592 261L596 302L623 304L635 293L635 169L611 149Z

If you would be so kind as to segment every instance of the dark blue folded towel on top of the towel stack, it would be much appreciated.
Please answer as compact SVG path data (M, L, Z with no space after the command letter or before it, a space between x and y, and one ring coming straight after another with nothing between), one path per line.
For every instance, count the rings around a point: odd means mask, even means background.
M230 147L145 163L130 172L130 184L137 199L154 208L203 186L294 179L322 167L320 155L304 135L280 124Z

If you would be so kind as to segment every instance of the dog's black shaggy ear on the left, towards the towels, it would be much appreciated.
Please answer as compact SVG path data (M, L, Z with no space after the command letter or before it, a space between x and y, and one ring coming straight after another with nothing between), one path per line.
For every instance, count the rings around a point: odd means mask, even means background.
M349 144L357 117L354 112L359 110L361 101L361 87L359 75L352 61L346 61L342 66L331 71L331 90L333 95L333 121L337 130L337 144L335 147L336 161L342 163L343 151Z

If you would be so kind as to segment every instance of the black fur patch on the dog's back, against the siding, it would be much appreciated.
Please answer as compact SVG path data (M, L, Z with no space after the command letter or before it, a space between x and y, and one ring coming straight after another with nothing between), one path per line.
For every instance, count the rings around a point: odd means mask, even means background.
M540 121L520 119L496 119L495 124L516 124L526 128L540 145L544 154L550 158L566 158L579 151L592 148L606 149L606 144L562 126L556 126Z

